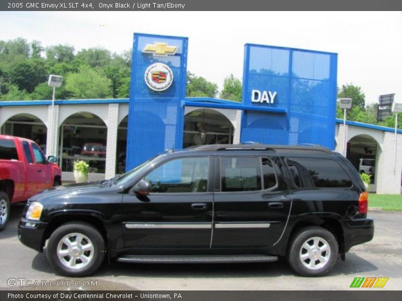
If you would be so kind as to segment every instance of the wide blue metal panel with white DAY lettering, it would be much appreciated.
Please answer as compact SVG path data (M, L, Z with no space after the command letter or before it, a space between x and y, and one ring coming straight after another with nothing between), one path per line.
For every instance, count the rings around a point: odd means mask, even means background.
M287 114L243 112L241 141L314 143L334 149L336 72L334 53L246 44L243 103ZM276 96L273 103L256 103L252 90Z

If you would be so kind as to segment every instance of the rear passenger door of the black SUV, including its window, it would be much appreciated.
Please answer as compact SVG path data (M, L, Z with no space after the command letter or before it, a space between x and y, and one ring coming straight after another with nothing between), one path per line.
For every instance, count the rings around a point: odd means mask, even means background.
M212 247L275 244L291 208L280 158L221 156L216 170Z

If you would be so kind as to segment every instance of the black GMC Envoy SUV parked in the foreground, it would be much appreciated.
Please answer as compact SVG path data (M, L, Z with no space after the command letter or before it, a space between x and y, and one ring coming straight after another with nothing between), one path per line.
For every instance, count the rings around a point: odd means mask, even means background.
M121 262L265 262L304 276L370 241L367 192L325 147L216 144L167 152L120 178L32 197L21 242L67 276Z

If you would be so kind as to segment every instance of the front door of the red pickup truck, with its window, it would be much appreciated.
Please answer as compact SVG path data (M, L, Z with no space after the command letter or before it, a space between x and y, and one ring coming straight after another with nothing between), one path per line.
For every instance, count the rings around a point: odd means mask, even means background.
M49 164L43 155L42 150L38 145L36 145L36 143L31 143L31 146L35 158L35 163L33 163L35 169L32 172L35 175L37 191L40 192L51 187L53 179L51 179Z

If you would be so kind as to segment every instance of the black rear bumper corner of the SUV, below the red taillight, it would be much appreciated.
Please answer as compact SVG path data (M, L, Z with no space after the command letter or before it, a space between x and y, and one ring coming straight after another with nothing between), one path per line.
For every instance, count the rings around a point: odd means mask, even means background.
M374 221L371 218L359 218L345 221L344 227L345 252L355 245L373 239Z

